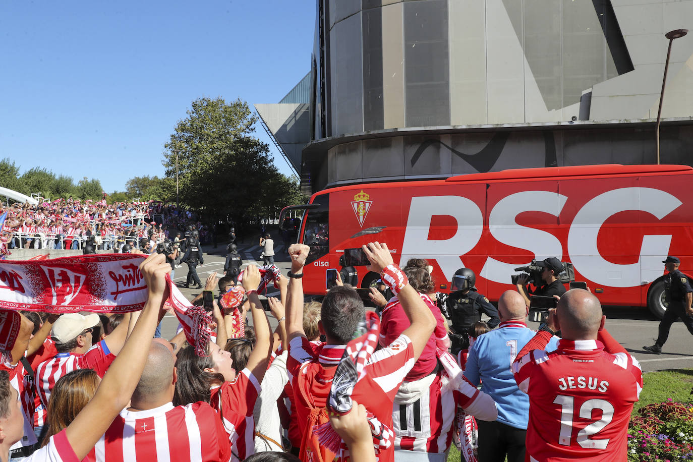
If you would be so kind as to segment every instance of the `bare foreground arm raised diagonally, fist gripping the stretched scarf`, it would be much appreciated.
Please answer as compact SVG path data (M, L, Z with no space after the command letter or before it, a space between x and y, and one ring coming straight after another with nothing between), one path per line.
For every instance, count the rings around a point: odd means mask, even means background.
M130 396L144 370L159 312L168 295L166 274L171 267L162 254L152 254L140 270L147 281L148 299L121 353L109 367L96 389L94 398L67 427L67 439L78 459L84 459L118 413L128 405ZM121 326L127 323L121 323Z

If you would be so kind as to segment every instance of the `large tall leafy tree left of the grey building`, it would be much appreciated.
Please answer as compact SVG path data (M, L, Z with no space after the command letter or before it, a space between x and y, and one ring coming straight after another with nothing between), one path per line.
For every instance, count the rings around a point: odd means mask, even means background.
M182 204L240 223L302 199L296 182L274 166L269 146L252 136L256 121L240 99L193 101L164 145L166 178L174 182L177 154Z

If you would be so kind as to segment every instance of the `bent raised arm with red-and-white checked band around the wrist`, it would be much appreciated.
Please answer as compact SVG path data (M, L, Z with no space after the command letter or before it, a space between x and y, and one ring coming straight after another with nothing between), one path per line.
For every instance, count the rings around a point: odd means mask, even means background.
M362 248L371 262L367 269L383 276L383 281L397 296L407 318L412 323L402 334L412 341L414 361L416 361L435 329L435 317L419 296L419 292L416 292L414 287L409 285L404 272L400 267L394 265L387 244L369 242L367 246L364 245Z

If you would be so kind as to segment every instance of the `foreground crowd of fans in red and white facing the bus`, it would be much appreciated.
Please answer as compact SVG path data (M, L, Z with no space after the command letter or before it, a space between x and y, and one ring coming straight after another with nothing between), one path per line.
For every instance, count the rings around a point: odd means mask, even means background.
M379 320L341 278L304 303L309 251L292 245L288 278L274 276L274 332L258 298L268 267L211 275L205 289L220 296L204 356L182 331L152 340L170 310L162 254L141 264L141 312L24 312L0 366L0 459L445 461L454 441L463 460L625 460L642 377L590 292L566 292L538 332L523 297L506 292L500 326L475 324L455 358L426 260L400 268L386 245L364 246L391 296ZM236 284L243 301L225 308Z

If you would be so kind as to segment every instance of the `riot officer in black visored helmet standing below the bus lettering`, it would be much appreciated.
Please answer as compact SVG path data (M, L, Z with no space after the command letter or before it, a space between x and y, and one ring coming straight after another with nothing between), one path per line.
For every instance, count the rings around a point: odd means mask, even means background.
M452 321L452 330L455 335L450 335L453 341L453 354L459 350L469 348L467 330L476 321L481 321L481 313L484 312L491 319L487 322L489 328L498 326L498 309L495 308L485 296L477 292L474 284L476 275L469 268L460 268L453 276L453 284L450 286L450 295L445 299L443 314Z

